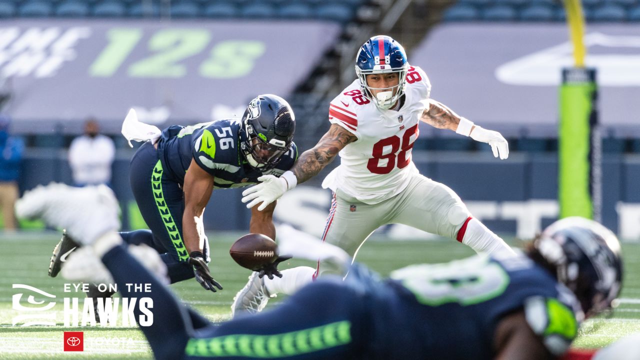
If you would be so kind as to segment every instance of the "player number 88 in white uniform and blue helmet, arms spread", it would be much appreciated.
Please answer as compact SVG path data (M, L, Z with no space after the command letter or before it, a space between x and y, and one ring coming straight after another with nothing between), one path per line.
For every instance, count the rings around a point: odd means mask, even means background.
M390 37L365 42L355 68L358 78L329 104L329 131L291 170L281 177L261 177L262 183L245 190L247 208L260 204L258 209L265 209L340 154L340 166L323 182L333 191L323 241L355 257L378 227L404 224L456 239L477 252L511 253L501 238L472 217L451 188L420 175L412 161L420 122L488 143L495 157L506 159L509 145L502 135L430 99L429 78L420 67L409 65L402 45ZM233 311L260 311L269 297L292 293L326 270L320 261L316 270L285 270L282 279L253 274L236 295Z

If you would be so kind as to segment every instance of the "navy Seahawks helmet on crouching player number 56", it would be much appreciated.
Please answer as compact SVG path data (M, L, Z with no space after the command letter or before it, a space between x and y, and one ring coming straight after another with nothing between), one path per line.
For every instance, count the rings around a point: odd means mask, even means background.
M273 94L259 95L244 110L241 152L257 170L274 168L291 149L295 130L296 117L285 99Z

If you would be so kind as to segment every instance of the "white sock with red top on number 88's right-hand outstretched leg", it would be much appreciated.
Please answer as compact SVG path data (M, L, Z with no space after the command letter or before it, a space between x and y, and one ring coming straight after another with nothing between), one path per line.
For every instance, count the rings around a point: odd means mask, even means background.
M476 250L492 255L514 255L515 252L499 236L489 230L476 218L468 217L458 231L458 241Z

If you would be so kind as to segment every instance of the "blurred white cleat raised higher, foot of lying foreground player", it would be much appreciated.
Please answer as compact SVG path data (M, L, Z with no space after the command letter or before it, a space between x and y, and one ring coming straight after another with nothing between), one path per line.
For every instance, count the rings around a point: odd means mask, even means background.
M41 218L49 225L66 228L68 234L83 245L120 229L118 200L105 185L37 186L16 202L15 213L20 218Z

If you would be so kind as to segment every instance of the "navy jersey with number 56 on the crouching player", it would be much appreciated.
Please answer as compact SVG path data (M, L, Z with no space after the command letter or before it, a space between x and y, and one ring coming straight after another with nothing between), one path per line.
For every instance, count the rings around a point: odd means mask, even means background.
M295 143L275 168L260 172L250 167L240 151L240 127L239 119L167 127L158 143L163 167L182 184L193 159L214 176L214 188L237 188L257 183L262 175L280 176L293 166L298 158Z

